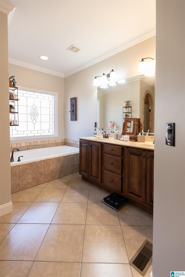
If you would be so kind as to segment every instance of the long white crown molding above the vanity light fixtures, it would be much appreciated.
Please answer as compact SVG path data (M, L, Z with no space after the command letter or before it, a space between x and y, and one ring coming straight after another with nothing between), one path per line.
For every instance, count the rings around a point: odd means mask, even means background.
M147 40L148 38L151 38L153 37L154 35L156 35L156 26L150 28L150 29L147 29L146 31L144 31L143 33L140 33L138 35L136 35L135 37L129 39L129 40L126 40L125 42L123 42L122 44L119 44L113 48L111 48L110 50L104 52L103 54L101 55L98 55L97 57L93 58L93 59L90 59L89 61L85 62L85 63L82 63L81 65L67 71L64 73L64 78L65 77L68 77L82 69L85 69L87 67L89 67L90 65L93 65L95 63L98 63L99 61L102 61L108 57L111 57L131 46L134 46L135 44L138 44L139 42L142 42L144 40Z

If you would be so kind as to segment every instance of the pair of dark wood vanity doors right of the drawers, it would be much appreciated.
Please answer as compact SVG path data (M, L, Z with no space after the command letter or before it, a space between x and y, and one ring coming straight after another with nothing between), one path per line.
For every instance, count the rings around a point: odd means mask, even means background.
M153 151L125 150L125 196L153 207Z

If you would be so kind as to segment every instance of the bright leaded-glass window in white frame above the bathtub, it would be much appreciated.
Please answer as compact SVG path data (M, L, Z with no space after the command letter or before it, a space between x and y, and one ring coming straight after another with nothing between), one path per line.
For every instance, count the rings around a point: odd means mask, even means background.
M56 134L56 94L18 89L18 126L10 126L10 139Z

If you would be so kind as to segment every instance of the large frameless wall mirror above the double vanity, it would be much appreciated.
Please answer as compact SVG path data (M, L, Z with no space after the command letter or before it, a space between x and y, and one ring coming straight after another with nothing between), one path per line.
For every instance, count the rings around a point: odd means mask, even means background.
M143 132L154 133L155 76L135 76L115 86L98 88L98 127L108 130L109 121L113 121L121 131L127 100L131 101L132 118L140 118Z

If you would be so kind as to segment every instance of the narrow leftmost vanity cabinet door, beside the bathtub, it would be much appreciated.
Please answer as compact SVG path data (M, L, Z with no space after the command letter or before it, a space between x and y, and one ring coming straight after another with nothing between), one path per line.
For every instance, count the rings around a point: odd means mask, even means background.
M85 177L88 177L89 163L88 163L88 151L89 142L80 140L79 145L79 173Z

